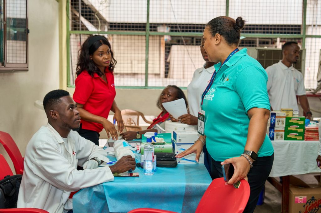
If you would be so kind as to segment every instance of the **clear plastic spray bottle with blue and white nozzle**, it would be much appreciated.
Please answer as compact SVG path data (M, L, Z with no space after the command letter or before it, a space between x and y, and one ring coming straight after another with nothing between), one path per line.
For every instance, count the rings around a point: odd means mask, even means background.
M146 144L144 146L144 174L154 174L154 146L152 145L152 139L155 141L155 132L146 132Z

